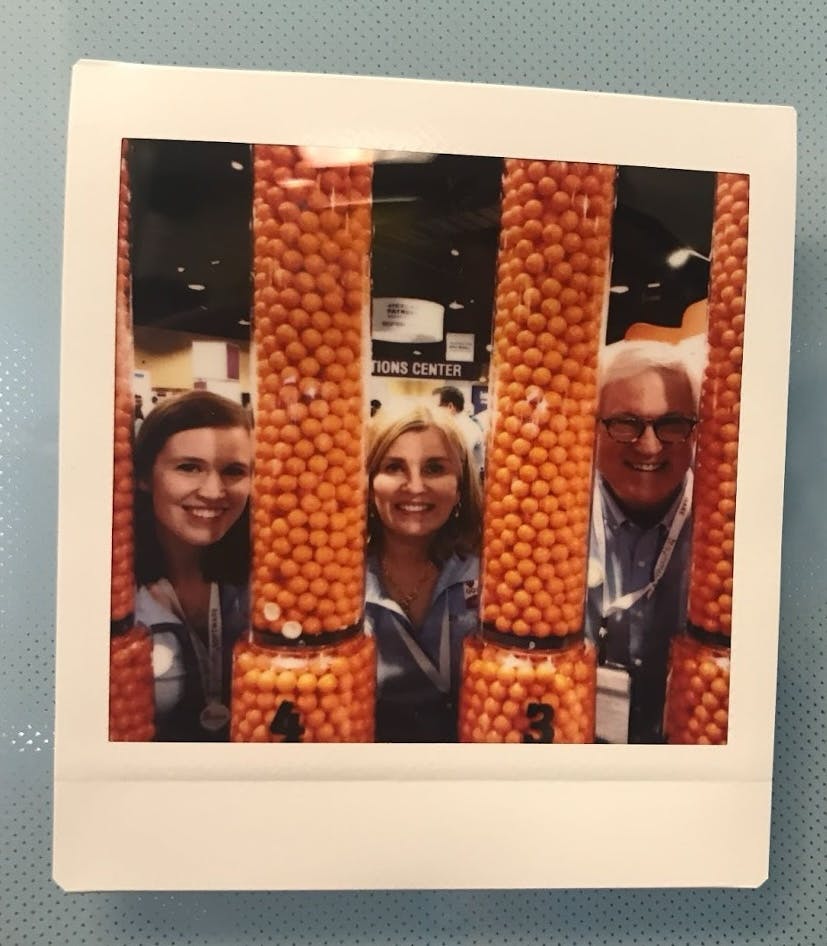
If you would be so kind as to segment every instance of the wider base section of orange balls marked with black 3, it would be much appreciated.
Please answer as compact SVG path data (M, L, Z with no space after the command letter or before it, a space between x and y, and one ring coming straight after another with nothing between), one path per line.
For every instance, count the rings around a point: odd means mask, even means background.
M468 638L460 742L594 742L596 661L587 641L529 653Z

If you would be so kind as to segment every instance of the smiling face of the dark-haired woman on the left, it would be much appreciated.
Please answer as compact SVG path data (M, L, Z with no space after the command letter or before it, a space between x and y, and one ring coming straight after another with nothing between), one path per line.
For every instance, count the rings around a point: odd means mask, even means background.
M244 511L252 443L243 427L173 434L152 467L152 507L161 544L213 545Z

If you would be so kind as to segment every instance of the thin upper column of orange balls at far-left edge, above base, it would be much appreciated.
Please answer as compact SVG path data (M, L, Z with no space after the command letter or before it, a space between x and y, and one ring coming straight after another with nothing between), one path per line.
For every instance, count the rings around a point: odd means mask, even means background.
M126 145L124 145L125 149ZM118 275L115 297L115 426L112 472L112 572L113 621L135 610L132 538L132 310L129 266L129 176L125 150L121 156L118 204Z

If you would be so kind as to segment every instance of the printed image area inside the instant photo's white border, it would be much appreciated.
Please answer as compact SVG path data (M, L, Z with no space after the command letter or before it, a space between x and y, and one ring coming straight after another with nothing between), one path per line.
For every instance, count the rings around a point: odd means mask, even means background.
M124 141L110 738L726 742L748 194Z

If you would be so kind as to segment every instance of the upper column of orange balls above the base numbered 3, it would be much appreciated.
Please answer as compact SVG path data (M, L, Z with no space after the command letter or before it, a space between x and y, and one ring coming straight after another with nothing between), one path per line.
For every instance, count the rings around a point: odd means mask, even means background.
M508 160L494 321L483 621L581 630L615 168Z

